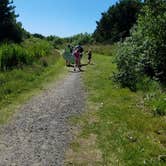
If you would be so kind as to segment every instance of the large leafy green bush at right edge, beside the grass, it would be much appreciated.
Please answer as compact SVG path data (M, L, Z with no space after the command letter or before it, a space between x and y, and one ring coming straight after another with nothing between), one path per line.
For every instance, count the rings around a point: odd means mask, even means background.
M115 79L137 89L145 75L166 82L166 2L147 1L131 37L119 43Z

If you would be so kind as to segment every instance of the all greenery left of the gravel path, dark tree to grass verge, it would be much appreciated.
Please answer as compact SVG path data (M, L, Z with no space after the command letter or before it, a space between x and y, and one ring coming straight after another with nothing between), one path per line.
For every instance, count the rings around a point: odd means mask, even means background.
M26 32L16 21L14 8L11 1L0 0L0 124L6 123L18 104L64 69L54 45Z

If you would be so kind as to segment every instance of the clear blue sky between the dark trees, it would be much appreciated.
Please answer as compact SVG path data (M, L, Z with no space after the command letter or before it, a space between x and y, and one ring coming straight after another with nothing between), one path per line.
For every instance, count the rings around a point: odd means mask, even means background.
M30 33L69 37L93 33L101 13L117 0L14 0L15 13Z

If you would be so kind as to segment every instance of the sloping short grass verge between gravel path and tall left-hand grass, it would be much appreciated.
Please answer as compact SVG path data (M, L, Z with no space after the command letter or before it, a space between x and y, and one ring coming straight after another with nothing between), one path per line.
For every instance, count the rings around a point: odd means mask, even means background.
M21 103L64 72L64 60L56 51L22 69L0 72L0 124L6 123Z

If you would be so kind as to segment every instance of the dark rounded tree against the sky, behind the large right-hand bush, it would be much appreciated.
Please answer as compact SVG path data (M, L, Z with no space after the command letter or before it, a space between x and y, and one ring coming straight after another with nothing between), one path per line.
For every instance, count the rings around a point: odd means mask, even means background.
M141 7L141 0L120 0L111 6L96 22L97 28L93 34L95 40L116 42L128 36Z

